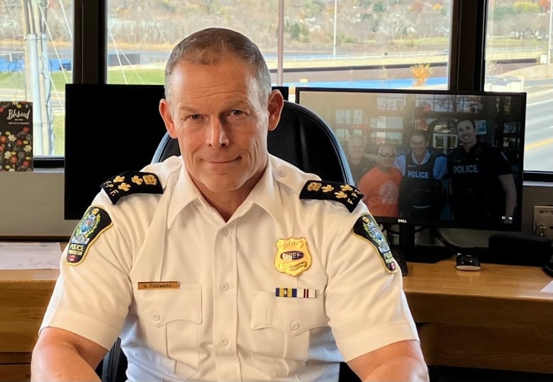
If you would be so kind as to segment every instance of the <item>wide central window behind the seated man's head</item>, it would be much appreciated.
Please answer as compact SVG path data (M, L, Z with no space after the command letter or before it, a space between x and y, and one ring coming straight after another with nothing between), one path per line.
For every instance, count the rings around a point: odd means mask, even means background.
M447 86L450 1L107 0L107 13L110 83L162 83L175 43L223 26L255 40L278 85Z

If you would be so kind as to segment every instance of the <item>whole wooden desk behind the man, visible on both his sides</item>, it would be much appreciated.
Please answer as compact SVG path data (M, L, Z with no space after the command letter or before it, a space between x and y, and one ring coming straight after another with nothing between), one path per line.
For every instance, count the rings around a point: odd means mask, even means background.
M553 279L540 268L452 259L403 278L430 365L553 373ZM0 271L0 381L28 381L30 352L58 271Z

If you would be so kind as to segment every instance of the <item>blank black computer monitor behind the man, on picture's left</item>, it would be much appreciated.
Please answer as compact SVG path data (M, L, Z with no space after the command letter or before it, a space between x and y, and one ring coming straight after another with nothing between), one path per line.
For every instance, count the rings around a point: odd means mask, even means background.
M273 86L288 98L286 86ZM100 184L152 162L166 132L164 86L66 84L64 218L82 218Z

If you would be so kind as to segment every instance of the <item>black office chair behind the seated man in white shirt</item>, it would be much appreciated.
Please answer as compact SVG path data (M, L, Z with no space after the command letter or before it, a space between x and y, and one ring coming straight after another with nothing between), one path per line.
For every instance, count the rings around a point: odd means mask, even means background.
M284 101L277 128L267 137L269 152L284 159L305 172L317 174L322 179L353 184L350 166L345 152L328 124L308 108ZM152 163L162 162L172 155L180 155L177 140L165 133L152 158ZM101 361L96 373L102 382L125 382L127 359L120 347L120 339ZM347 364L340 365L340 381L359 381Z

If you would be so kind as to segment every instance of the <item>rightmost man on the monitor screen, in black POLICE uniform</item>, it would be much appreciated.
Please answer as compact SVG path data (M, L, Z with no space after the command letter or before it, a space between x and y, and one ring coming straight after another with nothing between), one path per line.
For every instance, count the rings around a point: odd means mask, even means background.
M449 203L454 220L513 223L517 191L508 158L476 140L473 120L457 121L459 146L447 156Z

